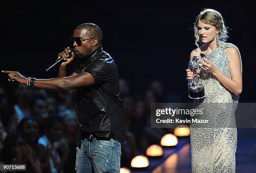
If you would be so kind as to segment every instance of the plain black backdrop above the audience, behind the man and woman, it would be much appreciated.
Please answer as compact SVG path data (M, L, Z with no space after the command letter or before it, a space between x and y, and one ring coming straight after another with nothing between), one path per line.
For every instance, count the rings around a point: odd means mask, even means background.
M209 1L210 2L210 1ZM187 102L186 72L196 48L193 23L204 8L218 10L229 27L229 40L238 46L243 61L240 102L255 102L256 3L59 3L1 5L2 56L0 70L14 70L36 78L53 78L44 69L70 46L69 38L81 23L95 23L103 32L102 46L115 60L120 78L131 92L145 92L154 79L164 85L168 102ZM77 61L70 64L72 72ZM13 84L0 74L10 94Z

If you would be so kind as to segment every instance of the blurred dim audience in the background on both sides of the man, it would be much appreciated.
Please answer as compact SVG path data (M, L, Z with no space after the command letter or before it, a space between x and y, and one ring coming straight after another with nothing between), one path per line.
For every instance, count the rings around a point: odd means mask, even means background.
M136 94L125 79L119 84L126 125L121 167L129 167L134 156L173 129L151 128L151 103L166 102L161 82L152 81ZM11 95L15 101L0 86L0 164L27 164L31 173L75 172L76 93L61 99L56 92L17 85Z

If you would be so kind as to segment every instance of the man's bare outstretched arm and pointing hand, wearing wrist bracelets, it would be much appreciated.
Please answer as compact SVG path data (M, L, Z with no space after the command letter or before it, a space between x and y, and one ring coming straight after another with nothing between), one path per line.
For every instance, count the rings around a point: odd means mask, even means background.
M9 81L19 84L27 85L27 78L22 76L18 71L2 71L8 74ZM94 77L88 73L83 72L69 77L57 77L53 79L36 79L34 86L42 89L52 91L68 91L76 89L80 86L91 86L95 84Z

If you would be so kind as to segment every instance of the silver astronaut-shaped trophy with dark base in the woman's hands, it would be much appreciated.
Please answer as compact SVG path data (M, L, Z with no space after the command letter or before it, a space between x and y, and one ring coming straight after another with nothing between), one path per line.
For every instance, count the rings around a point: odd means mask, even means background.
M205 57L205 54L200 53L201 58ZM202 99L205 97L205 88L202 84L198 84L198 73L201 71L202 62L199 61L198 56L193 56L192 61L189 61L188 69L194 72L195 77L188 80L188 92L190 99Z

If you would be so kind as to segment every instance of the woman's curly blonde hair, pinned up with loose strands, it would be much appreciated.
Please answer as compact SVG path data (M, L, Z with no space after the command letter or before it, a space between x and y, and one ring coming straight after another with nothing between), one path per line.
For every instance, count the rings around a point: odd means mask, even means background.
M194 31L195 31L194 35L196 38L195 44L197 45L197 47L199 47L198 41L200 40L200 38L198 36L198 29L197 29L199 20L202 23L215 26L215 28L219 31L219 36L220 36L221 41L226 41L228 39L227 27L224 25L224 20L223 20L221 14L218 11L213 10L213 9L204 9L197 16L197 20L195 21L195 24L194 24Z

